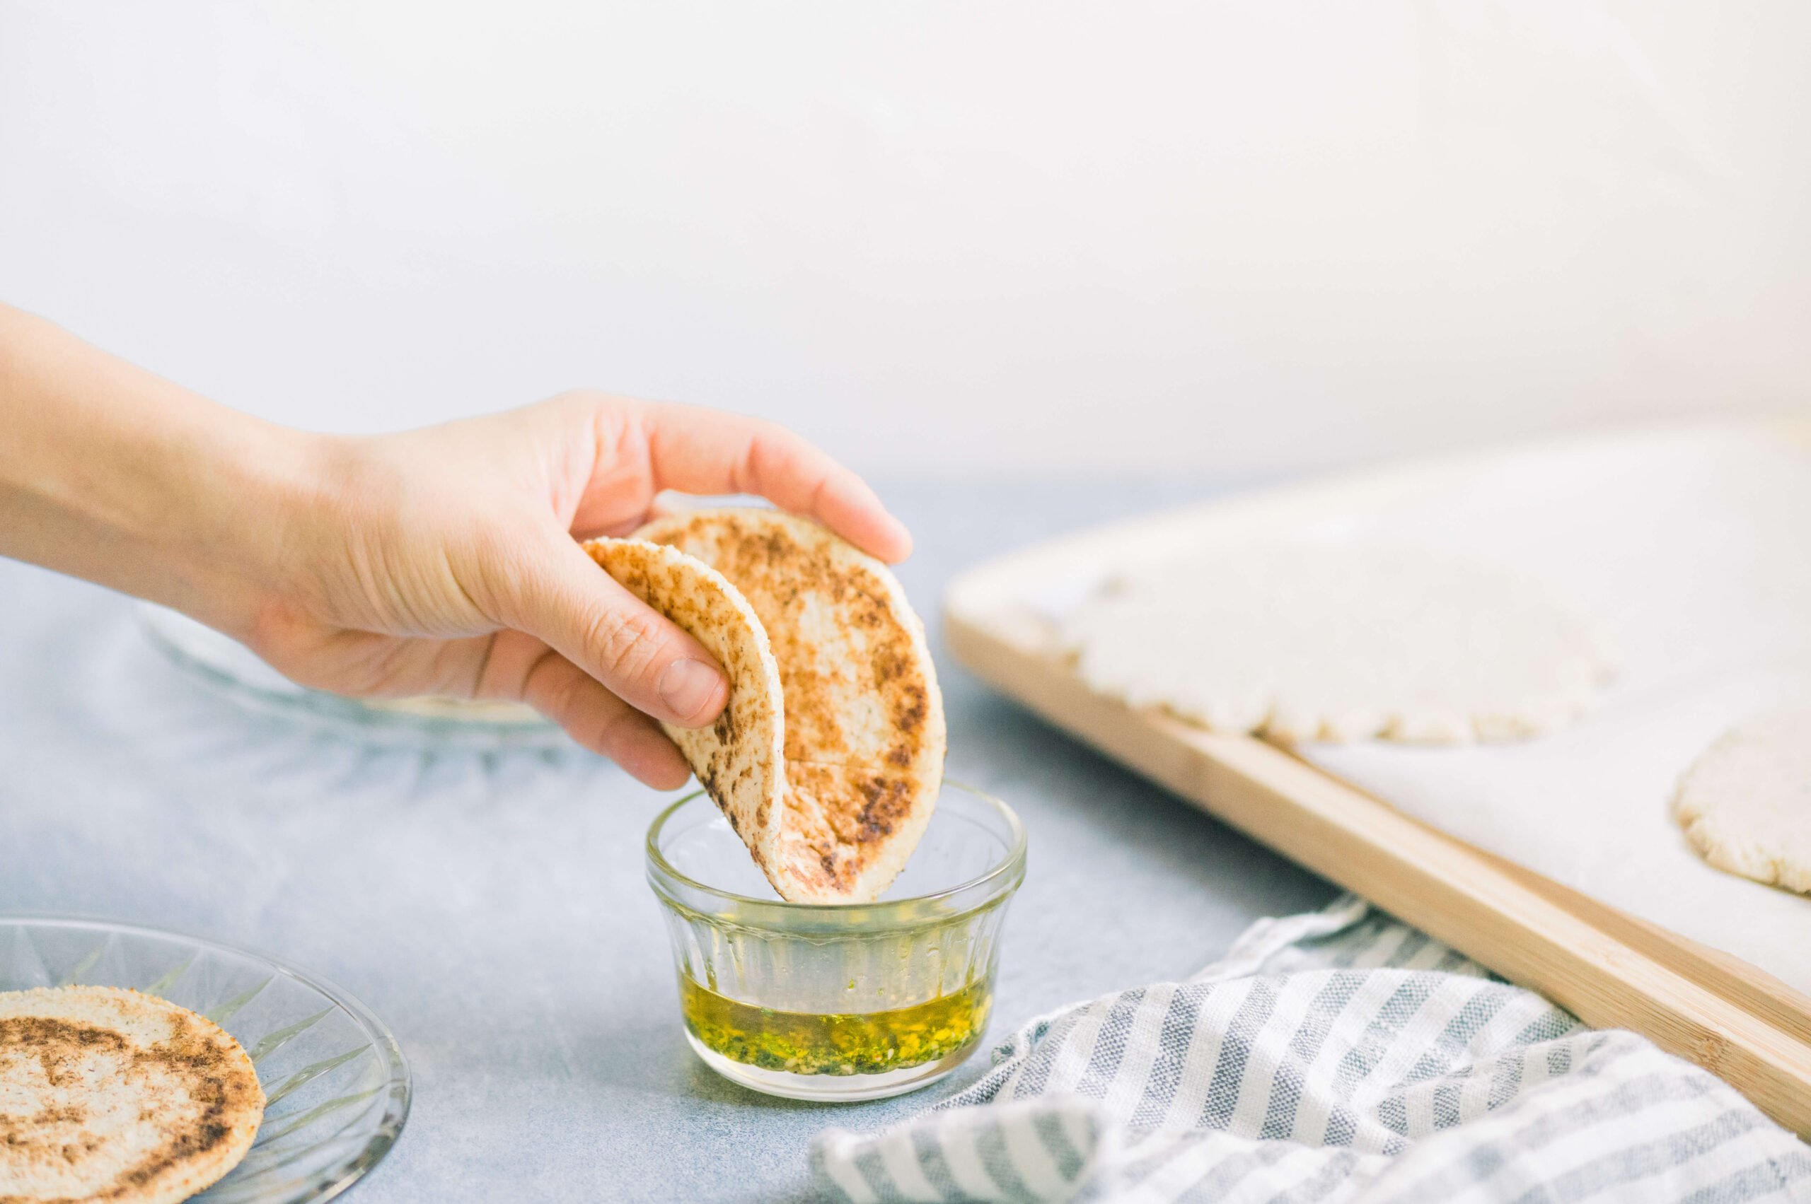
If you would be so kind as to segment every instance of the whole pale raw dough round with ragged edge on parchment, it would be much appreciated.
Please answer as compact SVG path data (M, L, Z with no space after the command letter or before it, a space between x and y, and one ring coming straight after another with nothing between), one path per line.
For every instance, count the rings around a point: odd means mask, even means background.
M1434 550L1268 541L1134 569L1063 625L1090 686L1277 741L1509 741L1585 712L1608 634L1519 574Z

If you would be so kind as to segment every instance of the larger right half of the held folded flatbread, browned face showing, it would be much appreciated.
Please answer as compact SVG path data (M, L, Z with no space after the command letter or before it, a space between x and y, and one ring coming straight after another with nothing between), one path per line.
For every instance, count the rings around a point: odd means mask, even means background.
M636 534L715 567L773 646L788 789L768 878L797 902L878 898L931 822L945 751L936 668L898 578L781 511L688 511Z

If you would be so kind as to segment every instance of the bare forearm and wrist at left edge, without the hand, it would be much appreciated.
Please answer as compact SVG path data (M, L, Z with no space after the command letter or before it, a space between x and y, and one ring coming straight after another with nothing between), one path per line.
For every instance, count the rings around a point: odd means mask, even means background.
M281 588L322 445L0 306L0 556L243 634Z

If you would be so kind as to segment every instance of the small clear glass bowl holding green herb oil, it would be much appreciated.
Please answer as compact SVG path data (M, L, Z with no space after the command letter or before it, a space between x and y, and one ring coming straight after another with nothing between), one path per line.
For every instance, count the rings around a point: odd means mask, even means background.
M1023 880L1018 817L954 782L877 903L773 898L703 791L648 829L686 1039L723 1077L788 1099L900 1095L967 1061Z

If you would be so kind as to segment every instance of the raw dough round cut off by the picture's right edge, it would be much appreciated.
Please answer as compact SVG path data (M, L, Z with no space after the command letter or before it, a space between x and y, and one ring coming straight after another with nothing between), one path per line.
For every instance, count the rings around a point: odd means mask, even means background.
M1717 869L1811 894L1811 704L1719 737L1679 779L1673 815Z

